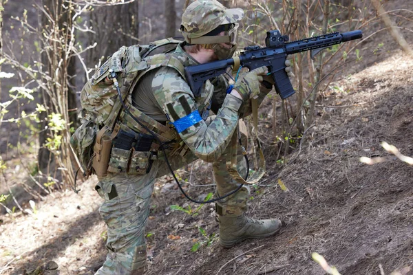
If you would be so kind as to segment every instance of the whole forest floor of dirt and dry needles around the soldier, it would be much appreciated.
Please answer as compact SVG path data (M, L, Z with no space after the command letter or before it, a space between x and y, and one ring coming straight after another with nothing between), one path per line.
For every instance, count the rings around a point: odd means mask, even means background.
M172 211L171 205L189 202L171 177L158 181L147 227L148 274L324 274L313 252L341 274L403 267L403 274L413 274L413 167L380 145L413 156L413 57L400 50L385 56L354 63L355 73L335 83L341 88L326 91L315 126L286 165L269 159L266 177L251 188L249 216L286 221L277 236L221 248L213 204L196 214ZM272 148L266 144L267 155ZM369 166L360 162L363 156L383 162ZM197 162L187 170L180 177L189 179L191 195L213 192L210 166ZM0 274L25 274L49 261L60 274L94 274L106 253L95 184L92 177L78 194L55 191L37 201L36 210L25 203L33 214L1 215Z

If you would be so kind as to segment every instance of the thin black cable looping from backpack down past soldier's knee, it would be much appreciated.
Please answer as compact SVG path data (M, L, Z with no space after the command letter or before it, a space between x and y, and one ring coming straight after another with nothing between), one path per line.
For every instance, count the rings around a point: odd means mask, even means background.
M184 189L183 189L182 186L180 185L178 179L176 178L175 173L173 173L171 164L169 164L169 159L168 159L168 157L167 157L167 153L165 152L165 148L164 148L164 144L165 144L165 143L164 143L164 142L160 142L159 137L156 136L156 134L153 133L153 131L151 131L150 129L148 129L147 126L145 126L144 124L142 124L142 122L140 122L137 118L135 118L135 116L132 115L132 113L129 111L129 109L127 109L127 106L126 106L125 102L123 101L122 94L120 94L120 88L119 88L118 80L116 79L116 73L114 73L114 72L112 71L112 72L110 72L110 76L111 76L112 79L114 80L114 85L115 85L115 87L116 87L116 91L118 91L118 97L119 97L120 102L122 103L123 109L125 109L125 112L127 112L127 114L131 116L131 118L133 118L140 126L142 126L143 129L145 129L146 131L148 131L148 133L150 133L150 134L156 139L156 141L160 144L159 148L162 150L162 153L164 153L164 155L165 155L165 161L167 162L167 166L168 166L169 170L171 171L172 177L173 177L173 179L175 179L176 184L178 184L178 188L180 189L180 191L182 192L182 194L183 194L187 199L189 199L190 201L192 201L192 202L194 202L194 203L201 203L201 204L211 203L211 202L219 201L220 199L224 199L224 198L226 198L226 197L229 197L230 195L233 195L235 192L237 192L238 190L240 190L240 189L242 188L242 186L244 186L244 184L241 184L241 185L238 186L235 190L232 190L231 192L223 195L222 197L218 197L218 198L216 198L216 199L210 199L209 201L196 201L195 199L192 199L191 197L189 197L189 195L187 195L187 193L184 191ZM248 164L248 160L247 160L247 164ZM249 170L249 169L248 169L248 170ZM248 170L247 170L247 176L248 176Z

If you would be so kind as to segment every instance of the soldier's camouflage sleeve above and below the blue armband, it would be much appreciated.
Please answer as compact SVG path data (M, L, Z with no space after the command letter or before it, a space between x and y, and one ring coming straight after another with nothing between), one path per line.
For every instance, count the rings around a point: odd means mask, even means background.
M186 55L178 47L176 53ZM189 60L188 60L189 61ZM153 95L171 122L184 118L209 104L213 86L207 81L200 98L194 98L189 85L169 67L162 67L152 82ZM208 92L206 92L208 91ZM224 152L238 122L238 109L242 100L227 94L215 119L207 126L202 120L179 133L189 149L200 159L213 162Z

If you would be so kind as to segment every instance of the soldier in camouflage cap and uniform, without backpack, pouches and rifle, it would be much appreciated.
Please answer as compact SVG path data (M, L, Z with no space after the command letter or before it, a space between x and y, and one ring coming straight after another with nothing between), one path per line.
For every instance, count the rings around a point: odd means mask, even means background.
M231 58L237 45L237 22L243 16L243 10L226 9L218 1L195 0L182 15L180 30L185 41L173 54L165 56L173 56L183 67ZM150 64L151 59L145 62ZM235 82L232 90L229 90L226 79L220 76L212 83L207 81L200 96L195 97L179 69L169 65L158 66L148 69L134 85L131 102L134 108L156 120L156 125L171 122L175 126L178 133L176 144L179 145L167 150L173 169L198 158L213 162L216 195L222 196L239 186L226 170L226 150L231 146L231 137L236 134L240 115L250 113L248 100L258 95L261 102L271 91L273 83L266 77L267 73L266 67L248 72ZM209 106L216 115L204 120L202 117L209 113ZM120 115L118 120L127 124L127 115ZM138 133L139 129L134 131ZM239 170L245 173L245 163L239 163ZM108 173L99 178L96 190L105 199L100 214L108 228L109 251L96 274L145 272L145 225L153 184L157 177L168 172L165 155L159 152L148 173ZM279 219L246 217L248 197L249 190L243 186L216 203L220 243L225 248L245 239L272 236L282 228Z

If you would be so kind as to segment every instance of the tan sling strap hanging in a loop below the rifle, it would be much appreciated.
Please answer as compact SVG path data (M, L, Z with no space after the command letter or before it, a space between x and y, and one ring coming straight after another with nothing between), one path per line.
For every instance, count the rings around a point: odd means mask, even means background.
M230 151L229 154L226 158L226 170L228 170L229 174L233 179L238 181L241 184L255 184L260 179L262 176L265 174L265 158L264 158L264 153L262 153L262 146L261 142L258 139L257 135L257 126L258 126L258 104L257 104L257 96L255 98L251 99L251 107L253 109L253 132L255 133L255 137L257 138L257 153L259 155L259 161L258 161L258 167L253 173L253 175L250 175L247 180L245 180L240 173L238 173L237 170L237 133L233 133L233 136L231 138L231 143L229 144Z

